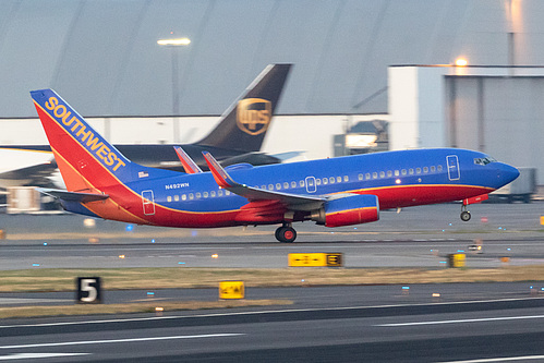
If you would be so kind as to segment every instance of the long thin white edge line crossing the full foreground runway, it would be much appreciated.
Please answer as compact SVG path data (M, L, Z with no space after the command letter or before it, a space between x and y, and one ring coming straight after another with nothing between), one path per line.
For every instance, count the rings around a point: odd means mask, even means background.
M290 308L290 310L259 311L259 312L136 317L136 318L126 318L126 319L104 319L104 320L40 323L40 324L14 324L14 325L2 325L2 326L0 326L0 330L1 329L10 329L10 328L36 328L36 327L53 327L53 326L87 325L87 324L134 323L134 322L149 322L149 320L162 320L162 319L188 319L188 318L198 318L198 317L244 316L244 315L247 316L247 315L266 315L266 314L281 314L281 313L350 311L350 310L363 310L363 308L391 308L391 307L395 308L395 307L410 307L410 306L421 307L421 306L439 306L439 305L463 305L463 304L477 304L477 303L516 302L516 301L528 301L528 300L544 300L544 299L543 298L496 299L496 300L440 302L440 303L432 303L432 304L390 304L390 305L370 305L370 306L343 306L343 307L329 307L329 308Z

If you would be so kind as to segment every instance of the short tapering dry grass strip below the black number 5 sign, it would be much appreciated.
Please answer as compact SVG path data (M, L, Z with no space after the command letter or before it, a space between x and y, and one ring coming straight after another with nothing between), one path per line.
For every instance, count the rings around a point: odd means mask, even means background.
M55 306L15 306L0 307L0 318L38 317L63 315L102 315L124 313L156 313L156 307L162 307L161 314L182 310L209 310L255 307L268 305L290 305L290 300L229 300L229 301L183 301L183 302L145 302L130 304L74 304Z

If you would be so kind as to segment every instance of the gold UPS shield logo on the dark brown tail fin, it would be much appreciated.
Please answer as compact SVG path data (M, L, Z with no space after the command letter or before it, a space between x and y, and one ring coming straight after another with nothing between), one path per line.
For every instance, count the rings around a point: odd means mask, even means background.
M238 128L250 135L258 135L268 129L271 102L263 98L245 98L238 102Z

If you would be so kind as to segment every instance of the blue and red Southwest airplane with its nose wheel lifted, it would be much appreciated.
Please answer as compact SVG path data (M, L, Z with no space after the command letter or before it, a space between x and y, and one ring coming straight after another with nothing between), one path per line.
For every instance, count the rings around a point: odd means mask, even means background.
M104 219L182 228L280 225L276 239L293 242L293 222L359 225L378 220L380 209L464 199L468 220L468 204L519 176L483 153L458 148L227 168L204 152L207 172L177 148L188 171L180 173L129 160L55 90L31 95L68 187L40 192L69 211Z

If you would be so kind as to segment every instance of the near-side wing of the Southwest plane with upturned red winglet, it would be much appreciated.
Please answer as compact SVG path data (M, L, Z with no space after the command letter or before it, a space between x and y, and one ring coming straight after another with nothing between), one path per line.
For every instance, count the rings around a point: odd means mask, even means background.
M289 209L313 210L319 208L325 202L328 201L323 196L281 193L252 187L245 184L239 184L228 174L228 172L219 165L219 162L217 162L211 154L203 153L203 155L217 184L231 193L247 198L250 202L276 201L281 202L282 204L288 206Z

